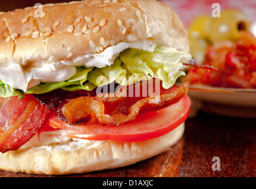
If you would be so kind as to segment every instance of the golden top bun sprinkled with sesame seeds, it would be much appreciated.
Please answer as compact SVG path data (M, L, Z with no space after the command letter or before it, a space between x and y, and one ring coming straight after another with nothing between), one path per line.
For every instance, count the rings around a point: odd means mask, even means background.
M95 54L141 39L189 51L177 14L153 0L47 4L1 12L0 22L0 67Z

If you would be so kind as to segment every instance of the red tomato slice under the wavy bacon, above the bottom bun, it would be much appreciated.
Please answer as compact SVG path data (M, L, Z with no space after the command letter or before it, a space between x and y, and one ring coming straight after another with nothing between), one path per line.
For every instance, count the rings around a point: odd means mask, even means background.
M187 94L174 105L164 109L140 114L133 122L120 126L106 126L100 123L91 125L69 125L53 113L49 124L53 128L68 129L68 136L89 140L119 142L139 142L156 138L177 128L187 117L191 100Z

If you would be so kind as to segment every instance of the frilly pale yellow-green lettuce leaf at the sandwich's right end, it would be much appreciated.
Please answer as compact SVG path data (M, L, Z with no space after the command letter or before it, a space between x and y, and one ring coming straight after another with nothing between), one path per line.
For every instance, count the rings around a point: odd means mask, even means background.
M119 58L129 71L130 80L154 77L162 80L162 86L168 89L178 77L185 75L182 63L187 63L191 55L169 47L156 47L153 53L129 48Z

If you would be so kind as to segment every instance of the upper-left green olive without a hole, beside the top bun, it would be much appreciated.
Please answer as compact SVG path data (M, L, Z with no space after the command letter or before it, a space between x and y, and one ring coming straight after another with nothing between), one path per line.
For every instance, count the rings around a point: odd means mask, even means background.
M212 18L207 15L201 15L191 22L188 27L188 37L190 38L208 38Z

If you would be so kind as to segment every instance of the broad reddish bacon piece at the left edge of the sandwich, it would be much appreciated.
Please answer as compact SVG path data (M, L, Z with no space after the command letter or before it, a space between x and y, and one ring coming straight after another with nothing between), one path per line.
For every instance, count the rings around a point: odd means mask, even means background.
M50 110L32 94L0 97L0 152L20 148L43 126Z

